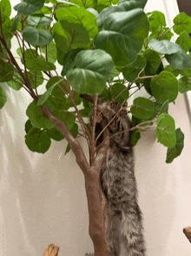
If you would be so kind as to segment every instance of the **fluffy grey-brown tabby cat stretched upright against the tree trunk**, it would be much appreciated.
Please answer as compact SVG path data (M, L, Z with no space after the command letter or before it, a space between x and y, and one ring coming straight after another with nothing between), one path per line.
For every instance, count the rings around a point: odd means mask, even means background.
M126 109L122 108L120 111L122 105L119 103L113 102L106 107L107 104L100 102L97 105L99 118L95 126L95 137L105 127L102 125L105 124L104 118L109 124L115 117L106 128L110 137L131 128ZM102 140L103 136L100 136L97 145L100 145ZM145 256L142 212L137 203L134 161L131 131L110 138L109 151L101 170L102 190L109 204L109 256Z

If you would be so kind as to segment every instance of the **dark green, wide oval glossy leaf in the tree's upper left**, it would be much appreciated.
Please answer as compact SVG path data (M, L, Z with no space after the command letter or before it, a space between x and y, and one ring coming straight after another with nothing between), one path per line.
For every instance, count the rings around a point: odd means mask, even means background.
M52 41L53 36L50 30L37 30L36 28L26 27L23 30L23 39L30 44L44 46Z

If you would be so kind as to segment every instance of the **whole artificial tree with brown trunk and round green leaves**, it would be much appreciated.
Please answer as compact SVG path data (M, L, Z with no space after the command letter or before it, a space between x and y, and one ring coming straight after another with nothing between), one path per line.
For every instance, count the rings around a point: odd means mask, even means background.
M30 151L45 153L51 139L67 139L66 153L74 152L84 174L95 256L109 255L104 224L107 200L100 184L102 162L109 149L109 124L101 131L103 143L96 147L98 101L107 105L117 101L132 114L133 145L143 131L155 129L158 141L168 147L167 163L183 148L184 135L181 128L175 129L168 104L175 103L179 92L191 90L191 57L187 53L191 17L180 13L168 28L160 11L145 14L146 3L23 0L14 6L16 17L10 18L10 1L0 2L0 82L30 93L25 124ZM172 43L174 32L178 37ZM12 37L18 43L17 56L11 50ZM56 71L58 65L61 73ZM46 87L43 95L38 94L38 86ZM148 96L136 97L138 91L147 91ZM129 105L132 96L135 99ZM6 100L0 87L0 108ZM76 139L80 136L89 145L89 159Z

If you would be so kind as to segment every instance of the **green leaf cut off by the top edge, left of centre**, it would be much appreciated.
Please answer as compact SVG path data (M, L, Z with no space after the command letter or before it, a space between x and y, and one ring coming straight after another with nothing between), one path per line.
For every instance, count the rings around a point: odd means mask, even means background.
M30 15L37 10L41 10L44 3L45 0L23 0L22 3L18 3L14 6L14 10L17 10L23 15Z

